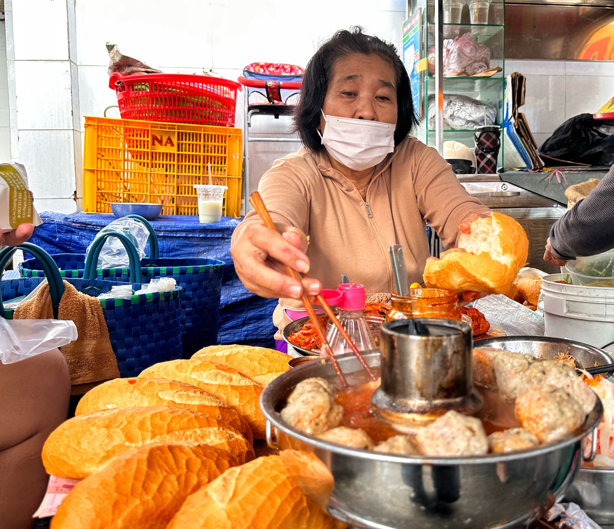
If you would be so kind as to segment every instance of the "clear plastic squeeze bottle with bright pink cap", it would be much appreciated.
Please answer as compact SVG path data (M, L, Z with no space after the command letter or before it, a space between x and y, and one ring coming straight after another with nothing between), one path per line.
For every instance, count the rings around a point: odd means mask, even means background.
M375 342L373 342L367 322L363 318L367 297L365 288L362 284L342 283L338 286L338 291L341 292L341 299L337 302L339 311L337 318L341 326L359 351L375 349ZM334 355L345 355L352 352L348 343L334 325L330 326L326 337Z

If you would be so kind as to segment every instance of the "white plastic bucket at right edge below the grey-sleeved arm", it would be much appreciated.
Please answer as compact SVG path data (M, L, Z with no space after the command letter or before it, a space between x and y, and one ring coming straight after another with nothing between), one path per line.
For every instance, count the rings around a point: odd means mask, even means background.
M560 273L542 278L545 335L602 348L614 342L614 288L556 283Z

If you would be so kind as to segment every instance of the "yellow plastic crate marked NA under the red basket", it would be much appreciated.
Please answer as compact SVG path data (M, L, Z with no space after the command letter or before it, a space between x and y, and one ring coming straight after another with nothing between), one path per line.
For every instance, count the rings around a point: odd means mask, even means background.
M197 215L193 184L228 186L222 214L241 213L240 128L85 116L83 211L111 202L162 204L163 215Z

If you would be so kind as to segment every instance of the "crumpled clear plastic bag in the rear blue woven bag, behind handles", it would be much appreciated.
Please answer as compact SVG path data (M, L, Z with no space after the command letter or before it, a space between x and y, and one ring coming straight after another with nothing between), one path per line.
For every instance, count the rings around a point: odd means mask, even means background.
M108 224L101 229L94 240L108 232L119 232L126 235L126 237L132 241L133 245L137 249L139 259L145 257L145 245L147 244L147 239L149 238L149 231L144 224L128 217L121 217L120 219L117 219L117 221L113 221L111 224ZM93 241L90 246L87 247L86 253L89 253L91 245L93 245ZM128 266L130 266L128 254L126 253L126 249L123 247L121 241L117 237L108 238L106 243L104 243L100 255L98 256L97 267L117 268Z

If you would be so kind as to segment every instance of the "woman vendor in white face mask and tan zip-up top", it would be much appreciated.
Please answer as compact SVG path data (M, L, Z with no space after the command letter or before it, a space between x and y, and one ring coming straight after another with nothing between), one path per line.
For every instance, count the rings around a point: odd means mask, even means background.
M452 248L459 230L489 213L409 135L417 119L405 66L392 44L360 28L338 31L311 58L294 120L303 147L258 186L278 232L251 211L233 234L236 272L260 296L297 307L303 289L336 288L342 273L367 292L391 292L395 244L410 283L421 282L425 221ZM300 284L281 264L317 280Z

